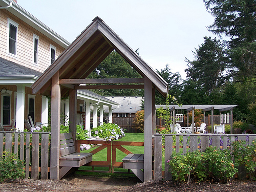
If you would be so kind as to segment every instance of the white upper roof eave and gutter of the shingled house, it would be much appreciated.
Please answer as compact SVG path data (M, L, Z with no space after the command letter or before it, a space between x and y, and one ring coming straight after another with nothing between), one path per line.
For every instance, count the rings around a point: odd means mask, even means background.
M7 8L7 10L12 13L13 15L17 16L18 18L22 19L31 27L35 28L37 31L41 32L42 34L46 35L53 41L55 41L58 45L62 46L63 48L67 48L70 45L70 42L58 35L52 29L47 27L45 24L40 22L37 18L31 15L28 11L20 7L17 3L11 0L1 0L0 6L7 7L11 4L11 7Z

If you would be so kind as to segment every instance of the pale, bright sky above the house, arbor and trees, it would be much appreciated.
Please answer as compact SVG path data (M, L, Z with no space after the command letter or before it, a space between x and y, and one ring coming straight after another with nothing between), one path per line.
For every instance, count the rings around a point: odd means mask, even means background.
M203 0L17 0L17 3L69 42L99 16L153 69L168 64L186 78L185 57L214 36L214 17Z

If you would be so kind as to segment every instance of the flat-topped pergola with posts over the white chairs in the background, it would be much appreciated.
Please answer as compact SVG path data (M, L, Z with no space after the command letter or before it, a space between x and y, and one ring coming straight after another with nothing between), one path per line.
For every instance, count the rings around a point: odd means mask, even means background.
M219 110L220 112L220 117L221 117L221 113L223 111L230 111L230 133L232 134L233 132L233 108L237 106L236 104L226 104L226 105L199 105L199 104L185 104L185 105L168 105L168 108L170 109L170 113L173 119L175 119L175 110L186 110L187 112L187 126L188 126L188 112L192 111L192 124L194 124L194 110L195 109L201 109L204 112L204 122L205 122L205 112L206 111L211 111L211 133L214 133L214 110ZM156 108L160 108L163 107L164 109L166 109L166 105L156 105ZM173 121L173 123L175 123L175 121ZM193 129L193 133L194 133L194 129Z

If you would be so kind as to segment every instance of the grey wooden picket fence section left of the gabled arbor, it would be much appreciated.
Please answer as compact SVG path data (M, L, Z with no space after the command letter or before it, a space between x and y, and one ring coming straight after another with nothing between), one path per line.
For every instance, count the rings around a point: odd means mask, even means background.
M40 173L41 179L48 179L49 146L49 133L46 132L6 132L5 142L4 132L0 132L0 156L4 151L17 154L26 162L26 178L38 179Z

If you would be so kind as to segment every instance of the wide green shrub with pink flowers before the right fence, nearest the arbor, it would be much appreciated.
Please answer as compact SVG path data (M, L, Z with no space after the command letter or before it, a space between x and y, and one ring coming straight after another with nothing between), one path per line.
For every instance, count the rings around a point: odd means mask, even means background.
M170 172L176 181L189 183L194 178L199 182L208 174L216 181L227 182L238 172L237 163L233 163L228 150L217 147L207 147L205 152L187 152L185 155L173 153L168 161Z

